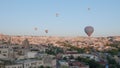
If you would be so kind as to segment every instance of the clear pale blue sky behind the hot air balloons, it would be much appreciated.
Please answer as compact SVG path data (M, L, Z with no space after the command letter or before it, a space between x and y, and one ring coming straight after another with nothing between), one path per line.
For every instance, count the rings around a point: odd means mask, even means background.
M120 35L120 0L0 0L3 34L87 36L89 25L92 36Z

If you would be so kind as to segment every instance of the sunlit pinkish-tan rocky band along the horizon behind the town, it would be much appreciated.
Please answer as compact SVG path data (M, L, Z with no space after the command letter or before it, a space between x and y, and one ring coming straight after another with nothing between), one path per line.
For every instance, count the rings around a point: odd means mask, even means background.
M101 42L103 45L109 43L109 39L120 41L120 36L118 37L56 37L56 36L10 36L10 35L3 35L0 34L0 41L11 43L11 44L22 44L22 42L28 39L29 44L58 44L57 42L68 42L71 44L76 44L76 42L88 42L91 40L93 43Z

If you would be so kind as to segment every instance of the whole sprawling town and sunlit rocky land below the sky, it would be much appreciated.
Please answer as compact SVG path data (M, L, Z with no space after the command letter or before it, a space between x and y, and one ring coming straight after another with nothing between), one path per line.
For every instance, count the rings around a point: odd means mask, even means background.
M0 34L0 68L118 68L120 37Z

